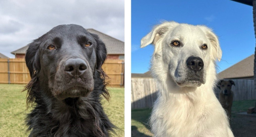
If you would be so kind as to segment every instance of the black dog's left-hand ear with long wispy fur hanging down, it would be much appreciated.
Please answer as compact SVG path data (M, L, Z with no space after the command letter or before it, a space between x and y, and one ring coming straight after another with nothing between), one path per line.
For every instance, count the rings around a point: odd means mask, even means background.
M27 90L27 107L30 106L30 104L33 105L35 101L35 91L36 89L33 89L36 87L37 79L38 79L38 73L41 70L40 65L40 59L39 59L39 45L40 43L37 42L37 40L34 40L34 42L30 43L28 46L28 50L26 52L25 60L26 65L29 69L31 80L28 83L27 86L25 86L23 91Z

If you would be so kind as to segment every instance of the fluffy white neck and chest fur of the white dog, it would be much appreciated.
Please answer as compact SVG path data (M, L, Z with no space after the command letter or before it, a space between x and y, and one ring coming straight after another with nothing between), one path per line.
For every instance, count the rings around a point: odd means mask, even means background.
M214 69L213 64L209 68ZM232 136L225 111L212 90L215 79L207 77L204 85L179 91L165 84L172 81L158 79L158 98L150 118L154 137Z

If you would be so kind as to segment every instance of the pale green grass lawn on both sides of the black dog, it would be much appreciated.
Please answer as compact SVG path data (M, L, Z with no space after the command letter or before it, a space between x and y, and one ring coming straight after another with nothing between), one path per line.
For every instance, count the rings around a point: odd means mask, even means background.
M0 136L24 137L26 125L24 118L29 110L26 110L26 92L21 92L24 85L0 84ZM117 135L124 136L124 88L109 88L111 102L102 101L104 110L109 119L120 128L115 130Z

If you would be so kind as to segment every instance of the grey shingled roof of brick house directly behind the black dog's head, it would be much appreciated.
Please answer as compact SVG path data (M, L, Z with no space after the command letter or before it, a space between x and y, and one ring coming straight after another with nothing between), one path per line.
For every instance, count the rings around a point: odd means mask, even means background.
M90 33L97 34L99 38L105 43L107 48L107 54L124 54L124 42L101 33L95 29L87 29ZM25 54L28 49L28 45L22 47L16 51L12 51L12 54Z

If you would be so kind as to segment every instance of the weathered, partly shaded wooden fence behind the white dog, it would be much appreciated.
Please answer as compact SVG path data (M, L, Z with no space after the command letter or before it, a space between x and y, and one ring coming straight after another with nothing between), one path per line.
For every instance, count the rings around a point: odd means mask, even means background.
M234 79L233 81L235 82L235 86L232 86L231 90L234 92L234 101L256 99L254 80ZM158 90L154 79L132 78L131 90L132 109L152 107L156 100ZM219 92L219 89L216 88L215 92Z

